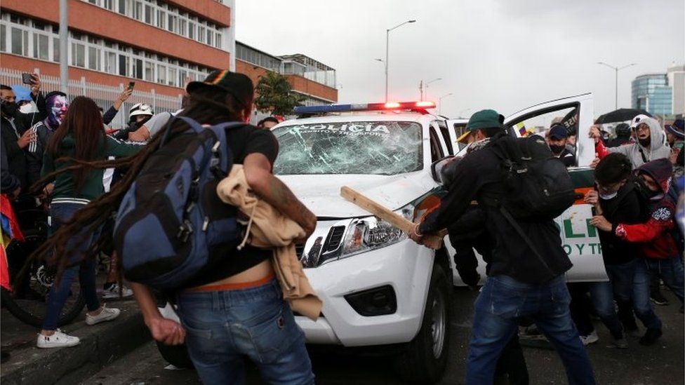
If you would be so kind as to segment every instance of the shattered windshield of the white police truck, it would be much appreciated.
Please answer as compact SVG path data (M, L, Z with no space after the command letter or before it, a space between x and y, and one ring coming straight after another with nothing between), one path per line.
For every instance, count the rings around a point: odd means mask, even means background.
M422 130L410 121L281 126L274 174L395 175L423 166Z

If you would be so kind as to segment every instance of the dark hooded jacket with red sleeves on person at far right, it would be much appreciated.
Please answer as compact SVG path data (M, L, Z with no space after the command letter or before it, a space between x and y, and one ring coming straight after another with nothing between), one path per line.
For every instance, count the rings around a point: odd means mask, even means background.
M657 159L637 168L634 171L636 175L647 174L661 187L661 191L649 200L651 215L646 222L640 224L619 222L613 225L613 233L619 238L641 243L644 255L648 258L668 259L679 254L671 236L671 229L675 226L673 217L676 208L675 202L668 196L672 172L673 167L668 159Z

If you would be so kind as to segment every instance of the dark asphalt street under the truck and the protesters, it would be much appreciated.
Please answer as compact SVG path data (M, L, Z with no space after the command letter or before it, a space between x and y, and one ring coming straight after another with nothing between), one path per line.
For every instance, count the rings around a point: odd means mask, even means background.
M598 384L670 385L683 384L685 368L683 316L677 299L665 293L670 306L656 306L664 321L664 337L654 346L645 347L630 339L630 349L608 349L608 332L596 323L600 340L589 346ZM459 311L453 320L448 370L439 384L462 384L465 356L470 335L472 302L475 293L457 289L454 302ZM525 343L525 342L524 342ZM540 347L525 347L524 353L531 384L566 384L564 367L557 354ZM317 384L402 384L392 372L390 359L338 349L311 349ZM83 384L200 384L193 370L166 370L154 343L145 344L128 356L109 365ZM248 383L260 384L258 373L248 365Z

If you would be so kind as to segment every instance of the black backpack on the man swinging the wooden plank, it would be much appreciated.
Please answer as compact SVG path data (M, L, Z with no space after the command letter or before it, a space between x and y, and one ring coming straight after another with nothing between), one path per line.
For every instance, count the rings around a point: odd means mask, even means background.
M499 204L515 219L554 219L573 205L576 193L564 163L538 135L496 138L504 194Z

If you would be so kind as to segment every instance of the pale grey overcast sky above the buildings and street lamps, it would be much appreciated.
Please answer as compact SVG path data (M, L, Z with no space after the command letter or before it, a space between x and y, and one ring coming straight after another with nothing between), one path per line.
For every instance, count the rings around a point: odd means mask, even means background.
M502 114L594 93L594 114L630 107L630 81L685 62L683 0L237 0L236 39L274 55L302 53L337 71L339 102L418 100L419 82L446 116Z

